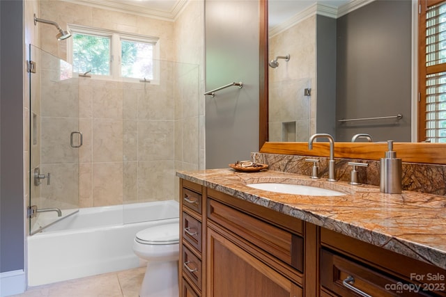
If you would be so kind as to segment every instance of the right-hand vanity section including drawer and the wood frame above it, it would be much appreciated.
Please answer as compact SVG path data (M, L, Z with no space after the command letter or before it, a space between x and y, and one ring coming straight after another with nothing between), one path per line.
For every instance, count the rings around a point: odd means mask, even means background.
M321 296L446 296L446 271L321 228Z

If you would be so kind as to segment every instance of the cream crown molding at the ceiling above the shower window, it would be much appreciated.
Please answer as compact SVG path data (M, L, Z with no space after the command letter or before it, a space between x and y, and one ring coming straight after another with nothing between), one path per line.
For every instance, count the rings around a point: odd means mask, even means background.
M151 17L162 19L164 21L174 22L179 13L185 8L189 0L178 0L170 11L156 10L146 8L144 6L136 6L125 1L116 2L109 0L63 0L70 3L80 4L84 6L92 6L95 8L103 8L118 11L120 13L132 13L141 17Z

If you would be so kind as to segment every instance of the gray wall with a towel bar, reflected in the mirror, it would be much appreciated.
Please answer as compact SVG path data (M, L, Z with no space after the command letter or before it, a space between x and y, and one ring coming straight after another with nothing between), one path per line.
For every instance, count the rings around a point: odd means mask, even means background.
M339 124L336 141L369 133L411 141L411 1L374 1L337 19L336 118L403 114L403 119Z

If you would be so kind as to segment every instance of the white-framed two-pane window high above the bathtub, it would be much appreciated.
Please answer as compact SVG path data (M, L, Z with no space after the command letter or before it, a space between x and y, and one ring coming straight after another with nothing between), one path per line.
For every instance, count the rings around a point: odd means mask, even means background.
M158 80L157 38L74 25L70 30L68 56L74 72L114 80Z

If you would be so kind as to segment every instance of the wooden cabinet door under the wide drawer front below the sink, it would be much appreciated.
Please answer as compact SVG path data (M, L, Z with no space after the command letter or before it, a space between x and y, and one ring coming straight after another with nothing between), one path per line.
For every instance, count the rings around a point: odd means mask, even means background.
M298 285L210 228L208 243L207 296L302 296Z

